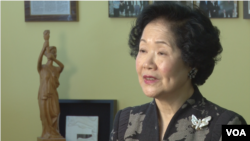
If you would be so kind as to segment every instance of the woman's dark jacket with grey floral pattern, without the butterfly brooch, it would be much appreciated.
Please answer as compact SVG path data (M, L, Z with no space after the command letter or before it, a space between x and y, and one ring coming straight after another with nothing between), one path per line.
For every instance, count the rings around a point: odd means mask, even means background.
M197 119L211 116L207 126L196 130ZM162 141L159 138L155 100L141 106L128 107L116 114L110 141ZM247 124L239 114L224 109L204 98L195 87L194 94L180 107L165 131L163 141L221 141L221 125Z

